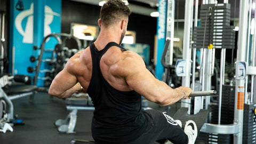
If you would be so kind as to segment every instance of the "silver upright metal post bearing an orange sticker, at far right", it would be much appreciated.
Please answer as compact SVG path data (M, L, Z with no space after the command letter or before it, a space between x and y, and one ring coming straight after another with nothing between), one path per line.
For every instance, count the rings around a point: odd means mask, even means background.
M239 6L239 32L237 42L236 74L238 73L238 61L245 61L248 26L248 1L240 1ZM239 133L234 135L234 143L242 143L243 140L243 97L245 79L238 79L236 75L234 123L239 125ZM239 100L238 100L239 98ZM242 102L241 102L241 101Z

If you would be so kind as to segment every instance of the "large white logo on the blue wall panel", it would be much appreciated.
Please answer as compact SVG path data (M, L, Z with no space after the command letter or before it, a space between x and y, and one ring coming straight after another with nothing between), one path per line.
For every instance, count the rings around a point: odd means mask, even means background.
M45 5L44 7L44 36L51 34L51 27L49 26L52 21L54 15L60 17L59 13L55 13L52 11L51 7ZM22 42L23 43L33 43L33 21L34 21L34 3L31 3L30 9L23 11L17 15L15 18L15 27L19 31L19 33L23 36ZM27 20L27 22L25 21ZM25 21L25 26L22 23ZM25 30L23 29L25 27Z

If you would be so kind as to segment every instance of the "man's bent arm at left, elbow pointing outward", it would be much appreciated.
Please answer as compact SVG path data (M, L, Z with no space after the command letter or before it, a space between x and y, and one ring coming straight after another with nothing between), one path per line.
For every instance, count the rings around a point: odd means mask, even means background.
M65 68L55 76L49 89L49 94L58 98L67 98L71 94L81 91L81 85L72 74L73 61L68 61Z

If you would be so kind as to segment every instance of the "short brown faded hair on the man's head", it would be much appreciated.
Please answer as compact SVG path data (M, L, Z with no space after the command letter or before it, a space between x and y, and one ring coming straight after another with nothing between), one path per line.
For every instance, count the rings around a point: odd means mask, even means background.
M116 24L121 19L129 18L130 8L121 0L106 0L106 3L100 9L100 19L103 26Z

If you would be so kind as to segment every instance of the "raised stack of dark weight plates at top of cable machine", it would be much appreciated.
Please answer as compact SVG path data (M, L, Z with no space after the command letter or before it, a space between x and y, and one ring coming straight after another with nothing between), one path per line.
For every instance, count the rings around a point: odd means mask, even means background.
M201 23L194 30L194 48L235 48L235 27L230 26L230 4L203 4ZM209 49L211 49L209 48Z

